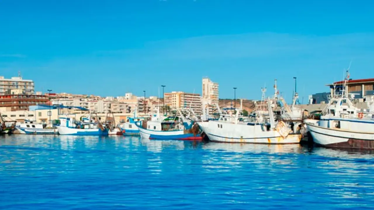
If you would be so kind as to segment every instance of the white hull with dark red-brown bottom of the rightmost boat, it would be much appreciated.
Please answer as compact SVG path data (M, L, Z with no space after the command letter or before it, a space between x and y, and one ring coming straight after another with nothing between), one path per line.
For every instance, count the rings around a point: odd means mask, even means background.
M374 133L353 132L343 129L321 127L306 121L313 141L323 147L374 149Z

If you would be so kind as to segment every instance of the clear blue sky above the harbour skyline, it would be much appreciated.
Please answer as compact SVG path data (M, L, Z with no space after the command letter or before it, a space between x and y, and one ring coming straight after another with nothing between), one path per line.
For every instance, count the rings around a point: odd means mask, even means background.
M36 90L119 96L201 93L260 99L266 84L304 102L341 80L374 77L372 1L1 0L0 75ZM300 98L301 101L301 98Z

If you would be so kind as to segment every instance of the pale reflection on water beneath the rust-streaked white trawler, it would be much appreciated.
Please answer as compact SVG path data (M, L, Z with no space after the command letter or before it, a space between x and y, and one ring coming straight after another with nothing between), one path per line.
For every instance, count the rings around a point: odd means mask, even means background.
M215 143L203 145L204 149L227 152L268 152L268 153L301 153L303 147L299 144L251 144L251 143Z

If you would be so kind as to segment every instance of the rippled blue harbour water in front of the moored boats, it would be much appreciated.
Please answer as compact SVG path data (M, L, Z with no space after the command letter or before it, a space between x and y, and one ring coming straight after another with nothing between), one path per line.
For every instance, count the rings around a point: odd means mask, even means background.
M0 136L0 209L373 209L374 154Z

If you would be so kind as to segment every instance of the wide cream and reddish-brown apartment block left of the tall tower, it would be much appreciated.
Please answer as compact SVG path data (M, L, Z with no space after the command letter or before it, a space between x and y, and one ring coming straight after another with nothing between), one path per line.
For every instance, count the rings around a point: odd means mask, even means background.
M191 108L196 115L202 113L200 94L173 91L171 93L165 93L164 98L165 105L170 106L171 109Z

